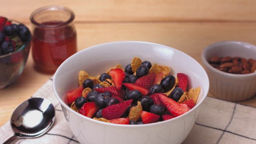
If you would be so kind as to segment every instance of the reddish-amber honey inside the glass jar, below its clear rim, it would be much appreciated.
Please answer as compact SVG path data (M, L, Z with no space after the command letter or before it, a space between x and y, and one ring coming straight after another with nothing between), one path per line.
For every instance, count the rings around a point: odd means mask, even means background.
M44 22L42 25L58 26L62 23L60 21L50 21ZM74 27L34 28L32 56L35 67L40 72L55 72L58 66L76 51L76 31Z

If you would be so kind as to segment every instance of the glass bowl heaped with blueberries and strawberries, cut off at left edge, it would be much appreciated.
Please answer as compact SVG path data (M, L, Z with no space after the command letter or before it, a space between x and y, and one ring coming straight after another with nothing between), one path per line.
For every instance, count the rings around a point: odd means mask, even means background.
M0 89L22 74L31 39L30 30L24 24L0 17Z

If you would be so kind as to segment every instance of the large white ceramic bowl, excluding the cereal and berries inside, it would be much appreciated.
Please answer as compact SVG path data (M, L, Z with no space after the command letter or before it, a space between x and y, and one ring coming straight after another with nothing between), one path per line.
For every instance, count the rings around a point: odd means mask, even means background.
M78 72L97 76L116 64L125 67L134 56L170 66L170 74L189 76L189 87L200 86L196 106L181 116L142 125L100 122L83 116L66 104L66 92L78 87ZM64 61L54 76L53 88L74 136L81 144L180 144L188 136L198 115L198 106L209 89L208 76L192 57L174 48L148 42L110 42L86 48Z

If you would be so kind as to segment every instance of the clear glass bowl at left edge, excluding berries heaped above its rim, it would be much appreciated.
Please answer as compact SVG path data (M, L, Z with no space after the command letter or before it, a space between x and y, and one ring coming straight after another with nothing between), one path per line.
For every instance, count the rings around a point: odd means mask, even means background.
M11 21L12 24L22 24L15 20ZM22 74L28 59L31 39L30 32L29 40L24 42L20 48L14 52L0 56L0 89L15 82L15 80Z

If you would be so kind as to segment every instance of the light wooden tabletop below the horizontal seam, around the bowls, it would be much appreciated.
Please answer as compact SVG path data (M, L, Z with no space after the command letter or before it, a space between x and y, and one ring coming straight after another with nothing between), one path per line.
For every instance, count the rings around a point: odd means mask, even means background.
M240 22L78 23L76 30L78 50L112 41L147 41L181 50L202 63L202 50L214 42L239 40L256 44L255 25ZM30 56L18 81L0 90L0 126L10 119L16 106L32 96L50 76L36 72ZM256 107L256 98L241 103Z

